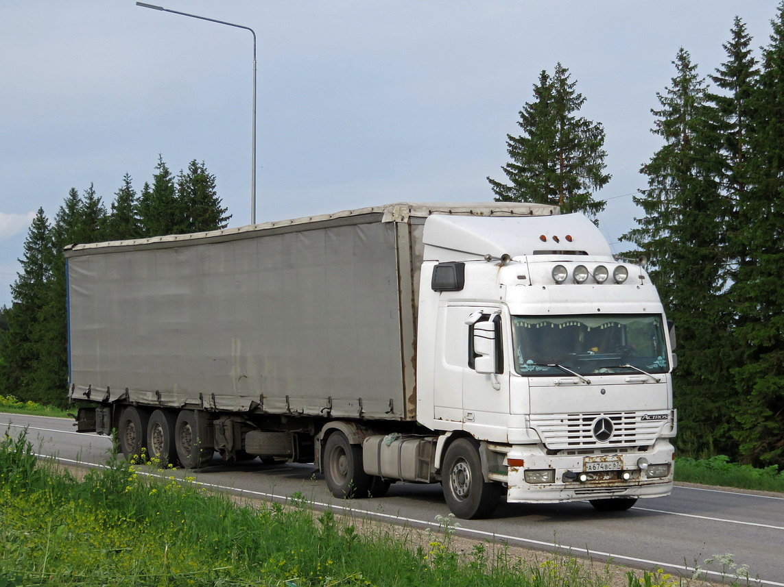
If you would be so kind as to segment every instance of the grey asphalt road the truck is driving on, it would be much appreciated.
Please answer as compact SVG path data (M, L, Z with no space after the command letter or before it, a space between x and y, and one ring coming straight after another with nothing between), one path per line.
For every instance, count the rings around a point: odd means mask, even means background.
M72 424L60 418L0 414L0 425L10 426L12 434L28 428L27 438L40 455L66 463L105 462L109 438L78 434ZM383 498L335 499L312 465L264 466L258 460L228 465L216 455L212 466L196 474L196 482L258 499L286 499L299 492L317 508L348 509L414 527L437 526L436 516L448 513L438 484L397 483ZM748 567L753 583L784 587L782 497L676 487L669 497L641 499L626 512L600 513L588 502L503 503L490 520L459 524L456 531L469 538L568 550L593 560L612 558L630 567L662 568L689 578L699 566L711 581L731 581L732 567L706 564L706 559L730 555L735 565Z

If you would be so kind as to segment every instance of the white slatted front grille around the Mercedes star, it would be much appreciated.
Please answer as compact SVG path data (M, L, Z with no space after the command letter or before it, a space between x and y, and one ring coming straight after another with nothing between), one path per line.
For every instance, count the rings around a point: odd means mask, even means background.
M583 414L532 415L531 425L550 450L652 445L666 420L642 420L642 416L668 412L596 412ZM604 442L593 436L598 418L612 422L612 436Z

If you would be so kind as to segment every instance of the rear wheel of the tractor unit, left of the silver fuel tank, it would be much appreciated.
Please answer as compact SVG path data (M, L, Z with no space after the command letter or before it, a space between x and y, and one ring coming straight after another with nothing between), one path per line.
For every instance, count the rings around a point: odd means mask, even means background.
M362 468L362 449L343 432L333 432L324 447L324 476L332 495L340 499L368 496L370 475Z

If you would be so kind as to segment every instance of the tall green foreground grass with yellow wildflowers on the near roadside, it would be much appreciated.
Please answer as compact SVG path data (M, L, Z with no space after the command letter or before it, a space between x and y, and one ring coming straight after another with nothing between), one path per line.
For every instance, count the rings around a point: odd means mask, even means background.
M77 481L37 463L24 433L6 433L0 585L609 585L570 556L528 563L489 543L462 553L448 520L423 538L405 528L358 528L362 522L308 510L301 498L239 506L187 481L139 473L113 457ZM641 579L630 572L623 583L676 583L661 573Z

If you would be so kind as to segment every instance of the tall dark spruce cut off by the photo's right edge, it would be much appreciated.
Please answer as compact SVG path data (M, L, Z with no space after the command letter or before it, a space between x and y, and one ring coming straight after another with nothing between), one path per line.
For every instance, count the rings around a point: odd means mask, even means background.
M784 465L784 2L763 49L753 92L749 187L739 201L745 224L737 234L741 259L731 286L738 313L735 340L742 356L735 384L741 450L753 463Z

